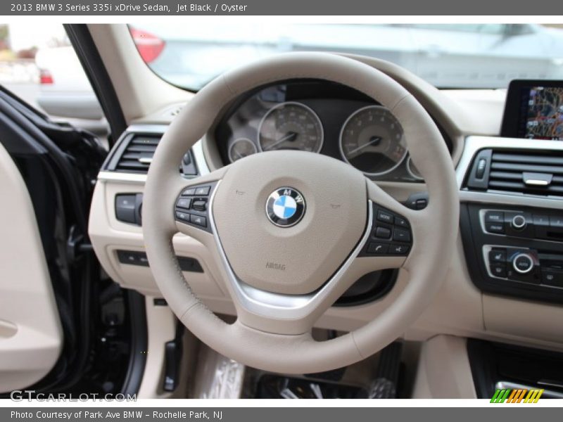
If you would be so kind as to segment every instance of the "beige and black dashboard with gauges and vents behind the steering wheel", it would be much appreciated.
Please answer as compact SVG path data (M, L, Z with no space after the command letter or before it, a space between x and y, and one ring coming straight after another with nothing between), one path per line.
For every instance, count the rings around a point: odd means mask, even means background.
M563 143L501 133L504 93L439 91L388 63L365 62L403 84L441 129L462 204L448 277L434 305L405 338L451 333L563 350L557 340L563 335L560 324L550 323L563 318ZM89 234L103 268L122 286L154 298L160 293L144 255L142 193L151 155L181 106L170 104L131 122L100 172L92 200ZM521 114L520 101L509 98L506 106L514 108L514 116ZM520 127L520 121L514 119L512 127ZM348 162L405 201L426 186L412 174L401 136L392 113L358 91L292 79L236 98L178 160L184 177L197 177L241 156L300 149ZM548 162L557 168L548 172L543 168ZM180 268L205 304L214 312L235 314L203 245L188 236L175 236L173 245ZM362 326L405 283L400 273L383 271L353 287L337 304L346 306L331 307L319 327L349 331Z

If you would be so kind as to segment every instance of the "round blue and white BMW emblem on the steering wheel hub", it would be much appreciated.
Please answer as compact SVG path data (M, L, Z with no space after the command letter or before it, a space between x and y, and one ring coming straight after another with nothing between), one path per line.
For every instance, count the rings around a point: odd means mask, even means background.
M266 215L280 227L297 224L305 214L305 199L294 188L277 188L266 201Z

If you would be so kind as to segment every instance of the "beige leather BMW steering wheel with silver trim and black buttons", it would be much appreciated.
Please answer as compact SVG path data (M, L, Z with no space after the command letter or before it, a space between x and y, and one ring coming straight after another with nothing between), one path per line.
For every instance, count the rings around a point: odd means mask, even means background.
M304 151L271 151L187 180L179 158L217 115L251 89L323 79L386 106L429 191L411 210L352 166ZM280 373L353 364L396 340L436 294L455 250L459 199L443 138L426 110L395 80L330 53L284 53L227 72L201 89L170 124L147 174L146 253L158 288L203 343L238 362ZM383 227L384 238L376 238ZM237 318L219 319L184 279L172 248L181 232L208 248ZM379 247L379 248L378 248ZM374 319L337 338L312 338L315 321L360 276L396 268L407 284Z

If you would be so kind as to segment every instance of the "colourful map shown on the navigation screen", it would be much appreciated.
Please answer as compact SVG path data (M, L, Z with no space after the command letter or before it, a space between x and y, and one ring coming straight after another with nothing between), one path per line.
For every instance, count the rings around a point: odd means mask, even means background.
M526 138L563 141L562 87L532 87L530 89Z

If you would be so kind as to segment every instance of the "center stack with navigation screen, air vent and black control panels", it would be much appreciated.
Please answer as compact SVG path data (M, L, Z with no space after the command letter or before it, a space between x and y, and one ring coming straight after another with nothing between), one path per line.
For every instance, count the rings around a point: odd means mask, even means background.
M514 80L500 137L469 136L460 228L483 292L563 302L563 81Z

